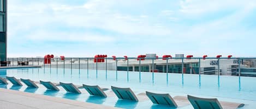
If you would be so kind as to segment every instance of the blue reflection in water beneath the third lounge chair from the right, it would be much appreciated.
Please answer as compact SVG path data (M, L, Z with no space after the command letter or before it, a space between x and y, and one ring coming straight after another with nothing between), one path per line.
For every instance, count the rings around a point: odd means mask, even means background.
M132 100L117 100L115 107L132 109L135 108L138 102Z

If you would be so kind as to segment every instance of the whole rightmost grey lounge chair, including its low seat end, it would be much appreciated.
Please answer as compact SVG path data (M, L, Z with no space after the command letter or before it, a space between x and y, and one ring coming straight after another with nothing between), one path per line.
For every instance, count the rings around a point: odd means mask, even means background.
M239 108L245 104L237 104L235 102L219 102L218 99L198 98L188 95L188 100L194 109L223 109L224 108ZM222 107L223 106L223 107Z

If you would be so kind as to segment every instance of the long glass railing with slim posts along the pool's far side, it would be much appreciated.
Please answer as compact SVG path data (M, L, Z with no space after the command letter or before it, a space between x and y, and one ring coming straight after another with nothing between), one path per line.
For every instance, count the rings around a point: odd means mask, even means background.
M5 63L4 63L5 62ZM256 76L256 58L232 57L191 57L191 58L137 58L116 57L65 57L65 58L32 58L19 57L7 58L1 61L1 67L5 66L35 66L43 68L59 69L87 69L110 70L118 72L150 72L154 73L180 73L180 74L204 74L204 75L231 75L231 76ZM64 72L63 70L63 72ZM141 76L141 74L140 74Z

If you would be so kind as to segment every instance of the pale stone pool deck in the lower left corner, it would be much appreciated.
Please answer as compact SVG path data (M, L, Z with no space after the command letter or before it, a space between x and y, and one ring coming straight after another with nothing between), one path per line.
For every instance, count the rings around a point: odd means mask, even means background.
M69 100L34 93L14 91L0 88L0 108L5 109L93 109L116 107L92 104L76 100Z

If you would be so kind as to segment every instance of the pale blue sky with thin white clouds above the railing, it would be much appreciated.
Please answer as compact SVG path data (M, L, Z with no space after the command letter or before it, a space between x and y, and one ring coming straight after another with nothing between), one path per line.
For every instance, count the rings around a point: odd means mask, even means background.
M12 0L8 57L256 55L256 0Z

